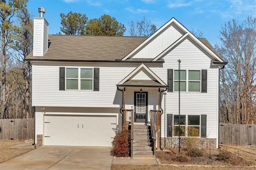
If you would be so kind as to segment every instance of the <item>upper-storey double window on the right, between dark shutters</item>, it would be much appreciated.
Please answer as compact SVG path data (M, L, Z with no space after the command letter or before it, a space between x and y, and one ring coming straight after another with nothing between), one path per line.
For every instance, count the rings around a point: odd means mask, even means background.
M180 91L200 92L200 84L200 70L180 70ZM178 70L174 70L174 91L179 91Z

